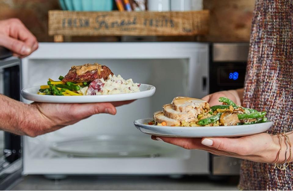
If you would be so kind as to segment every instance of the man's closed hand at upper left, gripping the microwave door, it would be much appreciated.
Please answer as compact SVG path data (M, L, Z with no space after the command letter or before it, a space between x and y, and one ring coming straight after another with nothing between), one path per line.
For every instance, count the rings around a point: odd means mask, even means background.
M0 21L0 46L15 56L26 57L38 49L38 41L19 19L13 18Z

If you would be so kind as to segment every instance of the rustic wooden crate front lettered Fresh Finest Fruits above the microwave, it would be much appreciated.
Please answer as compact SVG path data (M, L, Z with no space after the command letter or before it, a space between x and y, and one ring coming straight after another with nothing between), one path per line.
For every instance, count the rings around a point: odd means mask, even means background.
M208 32L209 11L74 12L49 11L49 35L189 36Z

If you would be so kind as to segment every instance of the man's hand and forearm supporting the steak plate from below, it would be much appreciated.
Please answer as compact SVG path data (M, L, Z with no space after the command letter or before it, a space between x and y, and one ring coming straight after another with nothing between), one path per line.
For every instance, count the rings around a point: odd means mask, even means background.
M38 103L24 104L0 95L0 128L18 135L36 137L72 125L94 114L116 114L116 106L133 102L112 103Z

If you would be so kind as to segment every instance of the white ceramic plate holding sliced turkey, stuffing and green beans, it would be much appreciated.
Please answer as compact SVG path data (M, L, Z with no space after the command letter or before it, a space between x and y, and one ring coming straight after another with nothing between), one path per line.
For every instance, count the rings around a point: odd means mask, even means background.
M268 120L265 123L251 125L218 126L218 127L168 127L145 125L153 118L134 121L134 126L141 132L163 137L236 137L262 133L273 125Z

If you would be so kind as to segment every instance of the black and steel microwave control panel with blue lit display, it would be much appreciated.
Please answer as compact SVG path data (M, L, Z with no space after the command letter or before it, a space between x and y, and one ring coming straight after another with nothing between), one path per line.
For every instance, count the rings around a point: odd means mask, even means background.
M210 45L210 93L243 88L249 43ZM210 154L211 175L239 175L241 159Z

